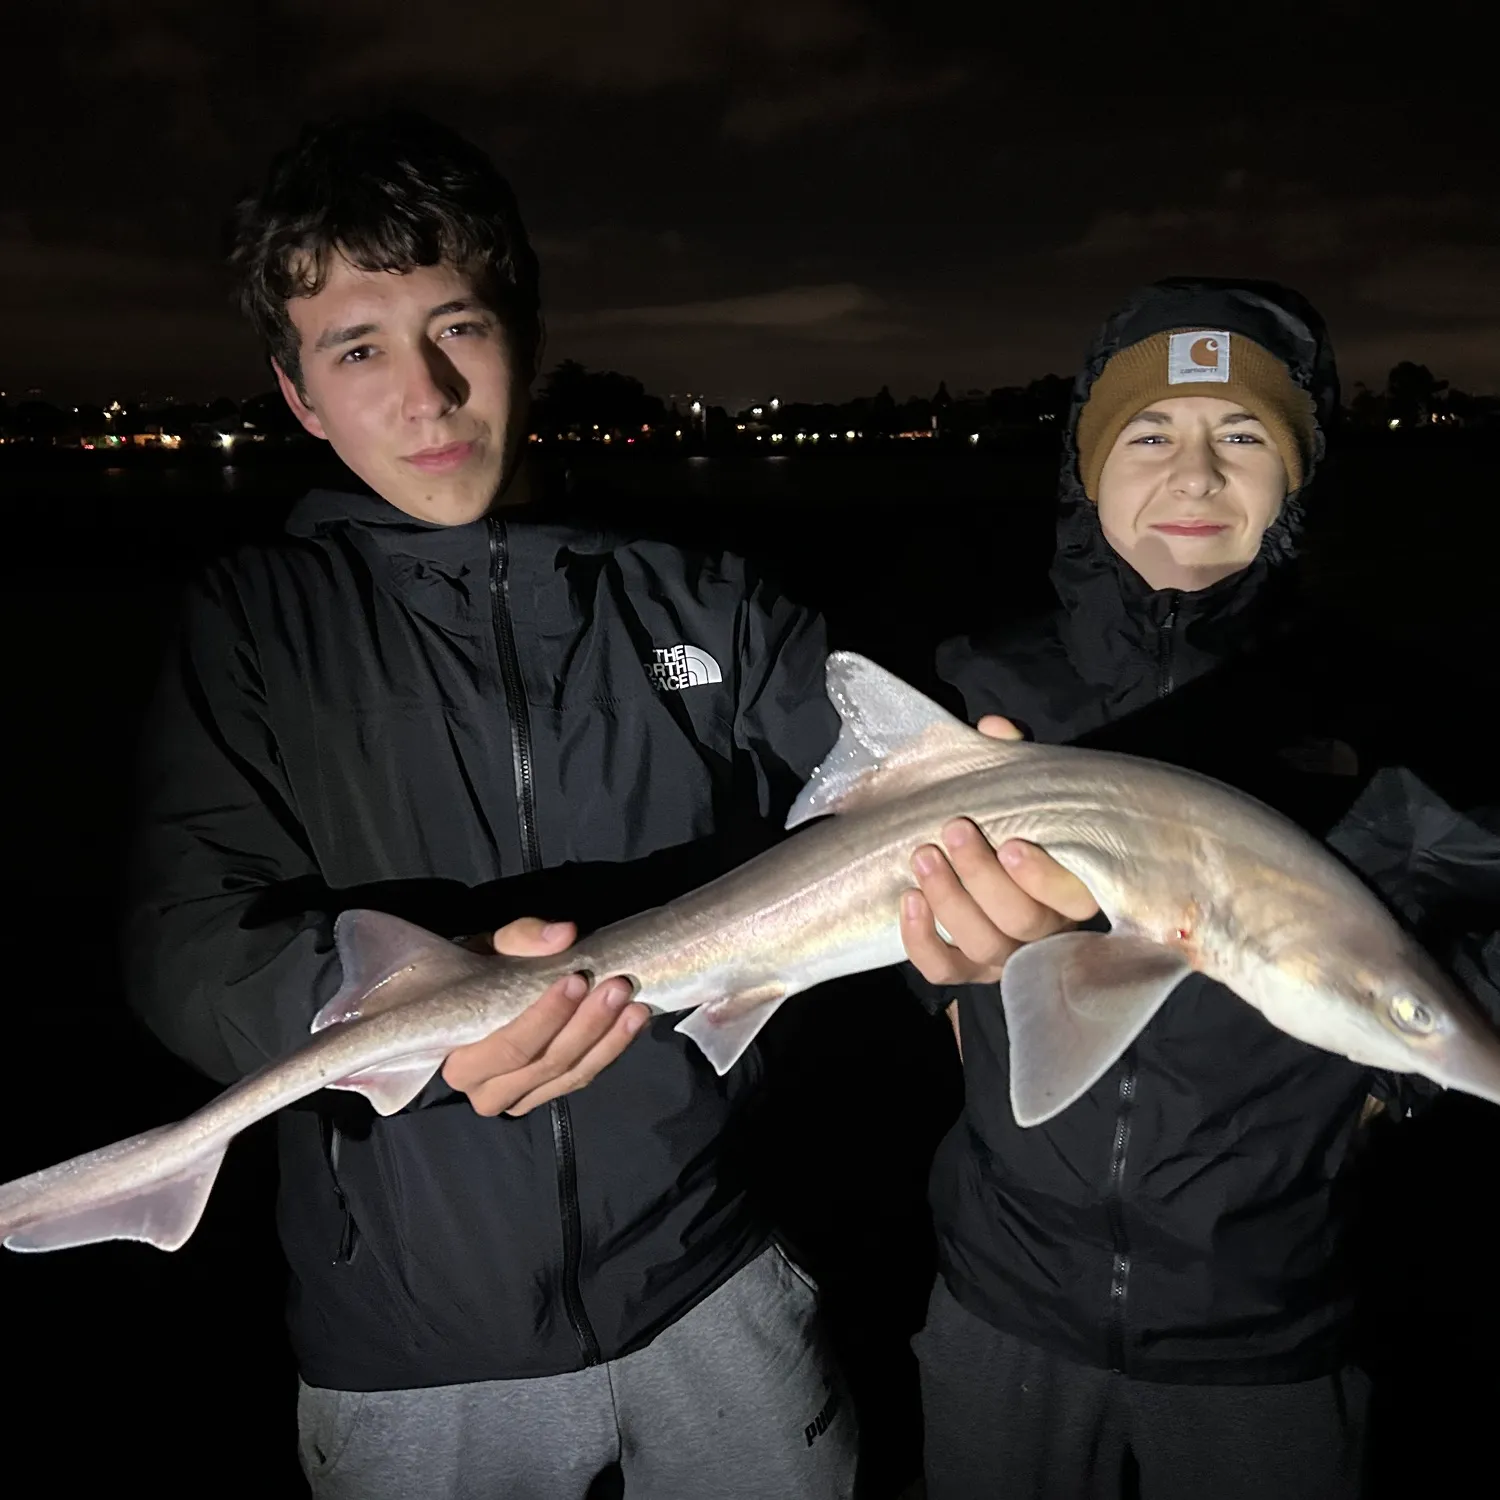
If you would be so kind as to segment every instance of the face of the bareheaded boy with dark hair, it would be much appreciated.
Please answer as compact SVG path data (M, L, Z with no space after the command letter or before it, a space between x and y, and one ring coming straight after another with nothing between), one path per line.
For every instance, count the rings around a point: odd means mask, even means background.
M530 362L466 272L362 272L336 256L286 309L302 390L286 404L376 495L420 520L478 520L526 435Z

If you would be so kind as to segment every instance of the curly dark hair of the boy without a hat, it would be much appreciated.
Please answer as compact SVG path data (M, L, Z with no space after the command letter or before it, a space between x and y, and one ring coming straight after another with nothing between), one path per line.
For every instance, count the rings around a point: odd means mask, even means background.
M302 386L292 297L327 280L333 255L366 272L446 262L474 276L518 350L536 357L537 258L510 183L464 136L410 111L308 124L236 208L230 267L267 352Z

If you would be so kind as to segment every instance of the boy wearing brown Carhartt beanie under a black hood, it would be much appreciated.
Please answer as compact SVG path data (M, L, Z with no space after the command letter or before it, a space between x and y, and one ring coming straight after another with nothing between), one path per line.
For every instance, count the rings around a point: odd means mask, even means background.
M939 650L970 722L1216 776L1356 867L1389 866L1412 820L1370 808L1401 772L1370 777L1390 762L1350 728L1294 588L1336 408L1323 326L1294 292L1172 280L1131 297L1074 390L1058 610ZM1484 942L1424 940L1497 1006L1500 975L1455 958ZM1286 1036L1192 975L1094 1089L1020 1130L999 994L964 978L956 963L930 996L966 1100L933 1166L939 1276L914 1341L928 1500L1353 1500L1371 1388L1347 1168L1366 1102L1401 1118L1424 1086Z

